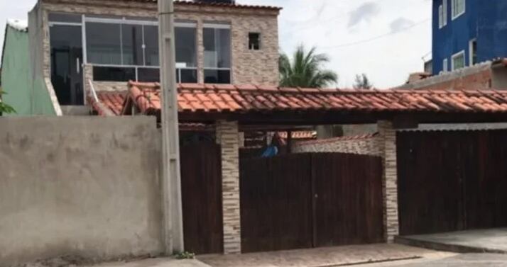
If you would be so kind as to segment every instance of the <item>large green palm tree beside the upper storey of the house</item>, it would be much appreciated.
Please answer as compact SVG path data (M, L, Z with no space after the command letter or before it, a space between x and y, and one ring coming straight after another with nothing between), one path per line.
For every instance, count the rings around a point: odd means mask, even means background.
M338 75L323 64L329 62L325 54L317 54L316 48L306 52L303 45L298 46L293 62L284 53L280 55L280 86L322 88L338 82Z

